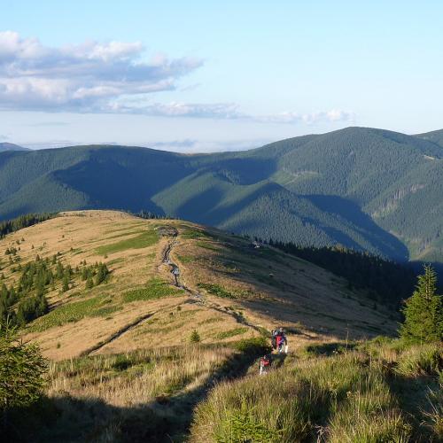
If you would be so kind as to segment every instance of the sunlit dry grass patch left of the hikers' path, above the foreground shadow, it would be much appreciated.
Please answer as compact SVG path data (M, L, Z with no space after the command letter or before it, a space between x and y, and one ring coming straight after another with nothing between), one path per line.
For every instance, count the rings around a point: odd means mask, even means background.
M146 404L201 385L232 352L183 346L52 362L48 394L56 397L68 392L113 406Z

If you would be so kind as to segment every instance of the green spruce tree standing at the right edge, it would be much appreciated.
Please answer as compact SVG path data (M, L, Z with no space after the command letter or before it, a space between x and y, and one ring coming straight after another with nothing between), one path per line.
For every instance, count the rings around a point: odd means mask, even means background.
M442 298L436 293L437 275L431 266L418 276L416 291L406 300L402 311L405 321L400 337L412 343L439 341L443 338Z

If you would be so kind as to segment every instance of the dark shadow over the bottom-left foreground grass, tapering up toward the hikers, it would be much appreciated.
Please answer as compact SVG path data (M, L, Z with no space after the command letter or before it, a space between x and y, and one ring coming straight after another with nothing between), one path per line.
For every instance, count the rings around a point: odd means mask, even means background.
M234 354L203 385L171 396L160 395L143 405L121 408L100 399L77 399L67 393L44 398L31 408L12 411L0 423L0 431L7 441L27 443L181 442L189 433L194 409L206 399L211 388L221 380L244 377L257 357L266 352L268 349L252 346L244 354Z

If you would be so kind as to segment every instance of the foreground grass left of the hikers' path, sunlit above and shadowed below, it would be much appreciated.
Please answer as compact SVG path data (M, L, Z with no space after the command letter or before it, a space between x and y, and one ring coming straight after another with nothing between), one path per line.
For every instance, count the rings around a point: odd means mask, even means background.
M12 411L8 438L183 441L206 385L235 355L228 347L189 345L51 362L46 396Z

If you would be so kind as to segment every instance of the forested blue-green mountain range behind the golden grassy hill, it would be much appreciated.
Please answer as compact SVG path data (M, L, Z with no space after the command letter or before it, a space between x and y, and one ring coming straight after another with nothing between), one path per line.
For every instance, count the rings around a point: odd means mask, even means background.
M89 145L0 153L0 218L116 208L300 245L443 261L443 130L346 128L246 152Z

